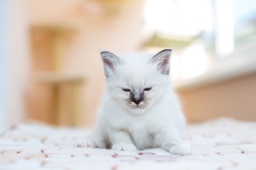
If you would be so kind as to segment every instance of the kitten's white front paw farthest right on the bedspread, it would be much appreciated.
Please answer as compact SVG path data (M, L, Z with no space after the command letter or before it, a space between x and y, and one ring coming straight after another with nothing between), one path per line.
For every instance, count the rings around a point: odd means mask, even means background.
M181 142L176 145L167 144L169 147L165 148L168 152L171 154L192 154L191 145L189 145L187 142Z

